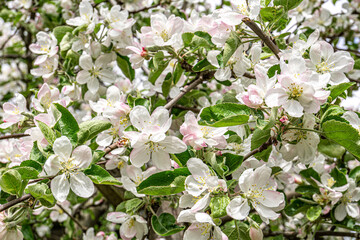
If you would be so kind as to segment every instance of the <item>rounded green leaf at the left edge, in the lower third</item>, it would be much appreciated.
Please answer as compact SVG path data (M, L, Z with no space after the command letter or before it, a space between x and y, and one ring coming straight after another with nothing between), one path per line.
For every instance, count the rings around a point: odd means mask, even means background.
M21 175L15 169L9 169L1 175L1 190L10 194L18 194L21 189Z

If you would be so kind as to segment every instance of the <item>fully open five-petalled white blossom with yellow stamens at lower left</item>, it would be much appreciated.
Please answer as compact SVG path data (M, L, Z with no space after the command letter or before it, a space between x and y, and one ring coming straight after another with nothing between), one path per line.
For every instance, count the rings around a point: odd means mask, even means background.
M53 150L55 154L46 160L44 169L50 176L61 172L50 184L55 199L65 201L70 188L80 197L90 197L95 191L94 184L81 170L91 164L91 149L82 145L73 151L70 140L62 136L55 140Z

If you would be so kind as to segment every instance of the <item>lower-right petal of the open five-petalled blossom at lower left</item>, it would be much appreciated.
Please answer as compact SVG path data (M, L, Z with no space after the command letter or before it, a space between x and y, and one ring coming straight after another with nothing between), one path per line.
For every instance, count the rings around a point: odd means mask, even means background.
M91 197L95 192L93 182L83 172L70 174L70 188L76 195L83 198Z

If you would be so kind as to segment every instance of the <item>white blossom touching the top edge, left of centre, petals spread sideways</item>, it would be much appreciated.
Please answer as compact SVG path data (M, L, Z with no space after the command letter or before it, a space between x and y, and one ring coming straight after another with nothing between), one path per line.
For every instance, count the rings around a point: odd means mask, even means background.
M87 0L83 0L79 5L80 17L71 18L66 20L66 23L71 26L83 26L87 25L86 34L94 31L95 25L98 22L97 10L93 9L91 3Z

